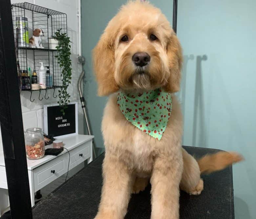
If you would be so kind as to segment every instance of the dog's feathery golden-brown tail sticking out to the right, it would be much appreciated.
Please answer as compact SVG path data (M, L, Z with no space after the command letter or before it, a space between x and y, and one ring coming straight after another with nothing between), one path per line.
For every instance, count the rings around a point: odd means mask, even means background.
M222 170L233 163L244 160L243 156L236 152L220 151L215 154L206 154L197 163L201 173L211 173Z

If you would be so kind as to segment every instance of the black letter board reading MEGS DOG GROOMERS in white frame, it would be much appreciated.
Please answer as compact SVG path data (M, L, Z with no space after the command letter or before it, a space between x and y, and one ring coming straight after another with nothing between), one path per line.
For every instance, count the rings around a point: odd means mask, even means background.
M54 137L78 134L77 103L67 105L65 115L60 109L56 104L44 106L45 133Z

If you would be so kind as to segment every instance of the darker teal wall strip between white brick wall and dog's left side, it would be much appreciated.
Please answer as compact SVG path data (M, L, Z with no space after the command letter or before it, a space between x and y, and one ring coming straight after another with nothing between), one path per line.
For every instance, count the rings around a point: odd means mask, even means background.
M102 111L105 107L107 98L97 96L97 84L92 66L92 50L96 46L107 23L125 2L126 0L81 1L82 54L86 60L84 65L84 97L92 133L95 135L94 142L97 148L104 148L100 128ZM86 127L84 130L86 130ZM100 152L102 152L102 150L97 149L97 154L100 154Z

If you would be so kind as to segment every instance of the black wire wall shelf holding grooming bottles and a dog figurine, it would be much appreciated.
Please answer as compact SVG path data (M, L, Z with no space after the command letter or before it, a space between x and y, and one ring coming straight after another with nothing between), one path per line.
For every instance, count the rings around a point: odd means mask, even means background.
M49 39L53 38L57 30L67 34L67 14L28 2L12 4L11 9L14 38L17 26L23 25L24 28L22 30L19 29L20 32L18 33L17 55L20 70L28 70L30 67L35 69L38 74L40 63L42 62L43 66L48 66L51 74L53 74L53 85L47 89L54 89L55 91L56 88L62 86L62 77L61 69L55 57L58 54L57 50L55 48L51 49ZM44 35L41 36L43 48L30 47L29 38L32 37L34 29L43 30ZM34 91L31 89L26 90L31 91L31 94Z

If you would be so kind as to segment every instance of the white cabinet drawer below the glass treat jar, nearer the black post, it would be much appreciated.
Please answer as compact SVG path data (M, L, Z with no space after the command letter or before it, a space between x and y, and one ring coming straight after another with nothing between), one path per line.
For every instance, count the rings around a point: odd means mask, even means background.
M63 154L62 156L42 165L41 167L34 169L34 190L37 191L43 188L67 172L67 164L68 156L67 154Z

